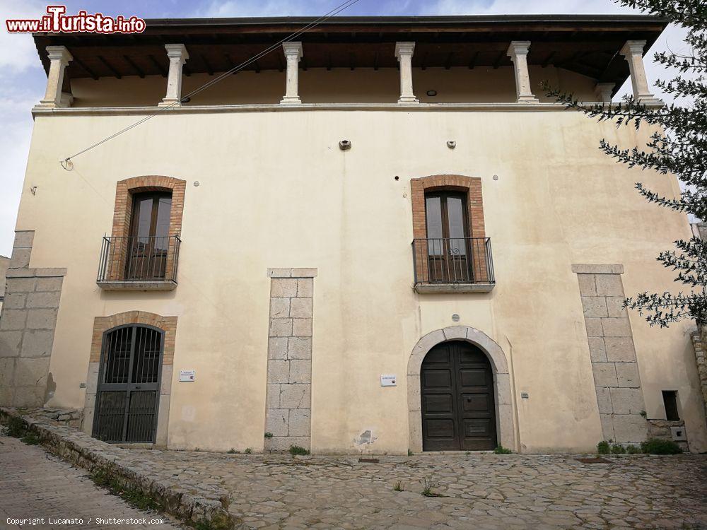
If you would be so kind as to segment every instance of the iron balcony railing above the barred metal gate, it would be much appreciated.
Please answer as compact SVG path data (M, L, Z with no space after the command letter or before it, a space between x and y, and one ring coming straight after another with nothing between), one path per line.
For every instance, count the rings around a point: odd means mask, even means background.
M179 235L103 237L98 283L172 281L177 283Z

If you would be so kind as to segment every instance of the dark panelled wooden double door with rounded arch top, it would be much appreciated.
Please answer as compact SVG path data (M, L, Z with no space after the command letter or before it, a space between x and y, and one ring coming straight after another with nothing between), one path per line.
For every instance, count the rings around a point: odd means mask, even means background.
M496 404L491 363L464 341L432 348L420 372L423 451L493 449Z

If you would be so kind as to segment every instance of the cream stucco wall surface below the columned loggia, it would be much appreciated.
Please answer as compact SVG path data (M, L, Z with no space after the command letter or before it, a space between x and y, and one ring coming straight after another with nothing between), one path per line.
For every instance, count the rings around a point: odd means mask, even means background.
M672 196L674 179L626 170L596 148L632 129L562 109L175 114L76 158L71 172L57 163L136 119L37 116L17 228L36 230L31 267L68 268L49 405L83 406L95 316L144 310L179 318L170 447L262 448L266 271L301 266L318 269L315 451L406 452L407 361L421 336L455 324L452 314L508 357L519 449L592 451L602 435L571 264L624 264L626 293L662 291L673 275L655 256L689 236L683 216L633 189L641 179ZM350 151L339 150L341 139L353 142ZM411 288L409 180L440 173L482 179L492 293ZM187 180L172 292L106 293L95 284L115 182L136 175ZM631 326L648 417L664 417L660 390L677 389L691 447L706 450L689 323L649 329L631 313ZM180 369L196 370L196 382L177 382ZM381 374L397 374L398 386L380 387ZM359 446L364 430L375 442Z

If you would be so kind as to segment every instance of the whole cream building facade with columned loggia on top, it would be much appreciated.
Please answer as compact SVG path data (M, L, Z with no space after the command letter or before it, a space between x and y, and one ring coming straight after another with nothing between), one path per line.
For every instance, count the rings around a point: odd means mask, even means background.
M539 88L605 102L631 76L660 105L642 56L665 22L341 18L286 39L307 22L35 35L0 403L174 449L578 452L667 420L706 450L689 322L622 307L672 288L655 256L690 234L633 183L677 181L597 148L650 129Z

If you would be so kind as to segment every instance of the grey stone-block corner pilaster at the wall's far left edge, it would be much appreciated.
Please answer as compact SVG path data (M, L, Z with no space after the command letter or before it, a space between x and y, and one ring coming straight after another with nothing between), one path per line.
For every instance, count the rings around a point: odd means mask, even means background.
M52 396L49 359L66 269L30 269L33 230L16 232L0 314L0 405L39 407Z

